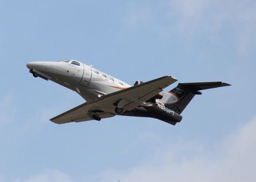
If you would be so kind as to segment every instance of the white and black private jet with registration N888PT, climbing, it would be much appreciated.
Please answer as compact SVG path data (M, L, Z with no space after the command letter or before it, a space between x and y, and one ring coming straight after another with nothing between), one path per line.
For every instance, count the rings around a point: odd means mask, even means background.
M151 117L175 125L182 120L180 114L192 98L202 94L200 90L230 86L224 82L179 83L170 92L163 92L177 79L167 75L148 82L136 80L131 86L92 66L70 59L26 64L34 77L56 82L86 100L50 121L63 124L124 115Z

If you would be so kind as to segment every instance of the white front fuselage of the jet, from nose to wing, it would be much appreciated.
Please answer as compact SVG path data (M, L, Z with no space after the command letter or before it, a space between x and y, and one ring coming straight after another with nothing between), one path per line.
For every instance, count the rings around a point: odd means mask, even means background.
M26 66L35 75L43 75L74 90L88 103L98 100L102 95L130 87L129 84L79 61L31 62Z

